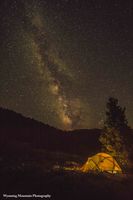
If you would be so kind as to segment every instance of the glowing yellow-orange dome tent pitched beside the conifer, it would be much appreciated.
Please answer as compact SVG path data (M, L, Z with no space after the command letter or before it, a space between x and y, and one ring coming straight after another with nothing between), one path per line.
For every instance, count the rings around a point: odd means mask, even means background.
M98 153L89 157L87 162L81 167L82 172L100 171L109 173L122 173L116 160L107 153Z

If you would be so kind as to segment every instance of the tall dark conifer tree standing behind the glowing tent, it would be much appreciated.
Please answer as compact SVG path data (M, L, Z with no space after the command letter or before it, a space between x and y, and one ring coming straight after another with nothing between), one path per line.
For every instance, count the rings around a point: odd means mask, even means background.
M126 109L119 106L118 99L113 97L108 99L106 108L106 120L99 140L102 150L115 157L124 169L129 165L125 135L123 134L129 129L125 116Z

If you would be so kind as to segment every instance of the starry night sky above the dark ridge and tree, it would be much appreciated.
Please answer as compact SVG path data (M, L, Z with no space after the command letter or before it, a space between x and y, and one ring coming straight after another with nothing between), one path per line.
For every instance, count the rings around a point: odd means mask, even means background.
M3 0L0 106L61 129L100 128L109 96L133 127L133 1Z

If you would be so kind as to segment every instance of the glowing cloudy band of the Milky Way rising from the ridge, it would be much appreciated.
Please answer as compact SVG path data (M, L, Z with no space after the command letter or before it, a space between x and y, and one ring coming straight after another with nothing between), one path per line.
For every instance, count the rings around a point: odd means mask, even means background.
M79 98L68 96L63 85L63 79L72 78L69 67L66 66L58 55L56 47L49 39L43 24L43 16L39 12L27 13L25 31L30 35L33 63L42 81L47 82L48 92L54 97L51 107L54 107L62 129L75 129L82 125L81 103ZM44 88L44 96L45 96ZM45 97L44 97L45 98Z

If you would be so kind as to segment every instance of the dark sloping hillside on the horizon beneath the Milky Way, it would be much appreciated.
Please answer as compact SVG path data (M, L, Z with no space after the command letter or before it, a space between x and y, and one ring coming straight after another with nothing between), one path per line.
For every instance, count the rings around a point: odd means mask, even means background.
M99 129L62 131L13 111L0 109L1 147L15 141L35 148L88 156L99 151L100 132Z

